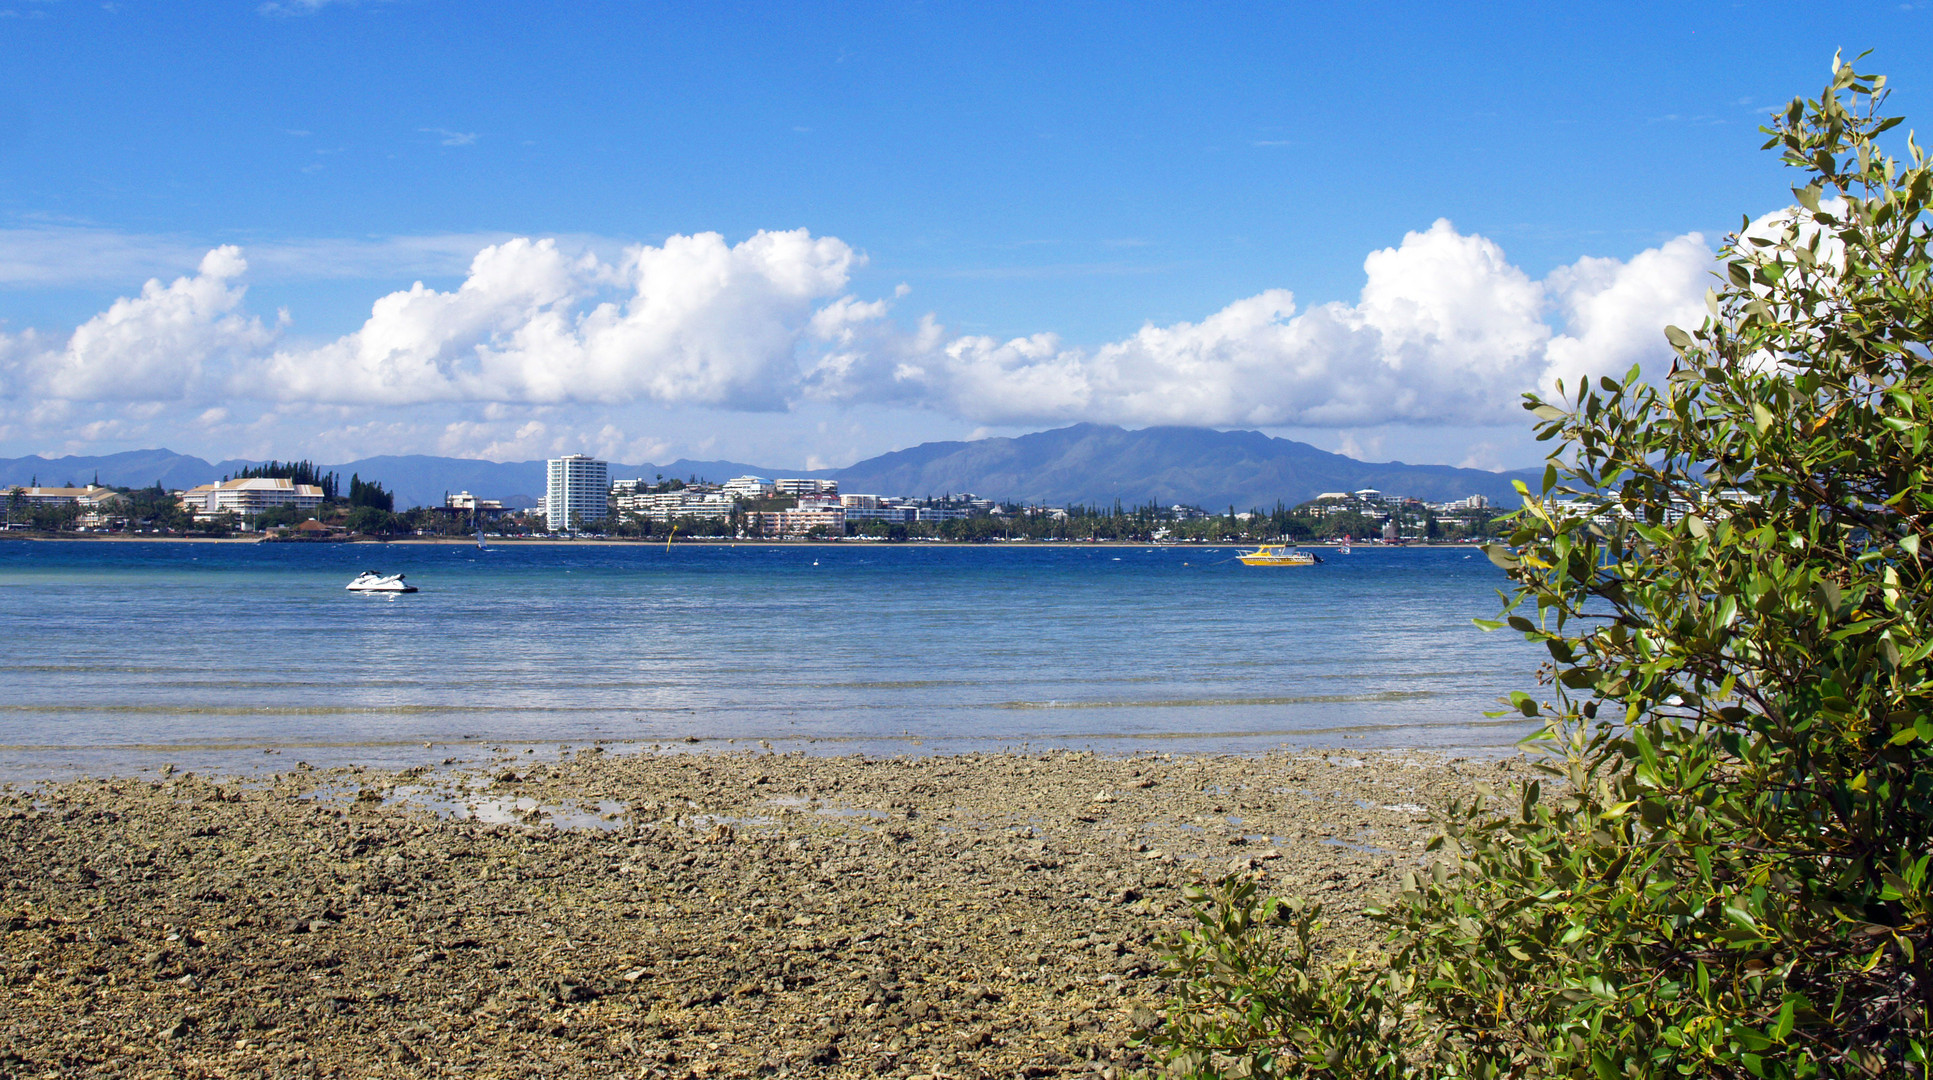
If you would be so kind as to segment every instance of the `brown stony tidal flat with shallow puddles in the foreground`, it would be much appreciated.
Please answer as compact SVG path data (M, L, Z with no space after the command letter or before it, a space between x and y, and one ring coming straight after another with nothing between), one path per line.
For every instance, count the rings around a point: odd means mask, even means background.
M1181 889L1355 912L1519 759L506 752L0 798L8 1076L1117 1076Z

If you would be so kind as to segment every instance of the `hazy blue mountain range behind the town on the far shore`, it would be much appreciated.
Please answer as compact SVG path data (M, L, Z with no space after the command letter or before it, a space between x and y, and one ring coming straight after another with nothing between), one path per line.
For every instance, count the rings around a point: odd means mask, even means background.
M89 483L193 487L255 466L253 460L205 462L172 450L128 450L106 456L0 458L0 485ZM379 456L338 466L344 483L352 473L381 481L396 493L398 506L441 506L445 493L470 491L530 506L543 493L543 462L481 462L474 458ZM1013 439L972 442L922 442L841 469L775 469L744 462L611 464L611 479L659 475L725 481L735 475L837 479L841 491L930 497L974 493L1013 502L1111 504L1113 500L1187 502L1226 506L1297 504L1324 491L1374 487L1392 495L1446 500L1485 495L1512 502L1510 481L1531 481L1533 469L1494 473L1452 466L1359 462L1307 442L1274 439L1258 431L1204 427L1146 427L1129 431L1077 423Z

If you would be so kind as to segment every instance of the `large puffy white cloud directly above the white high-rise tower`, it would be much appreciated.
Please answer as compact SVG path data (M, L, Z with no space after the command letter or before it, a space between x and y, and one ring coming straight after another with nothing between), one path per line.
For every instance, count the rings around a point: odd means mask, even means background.
M377 299L354 334L278 352L269 379L290 400L783 408L794 348L856 261L806 230L738 245L673 236L615 267L510 240L479 251L454 292L416 284ZM624 296L599 301L613 288Z

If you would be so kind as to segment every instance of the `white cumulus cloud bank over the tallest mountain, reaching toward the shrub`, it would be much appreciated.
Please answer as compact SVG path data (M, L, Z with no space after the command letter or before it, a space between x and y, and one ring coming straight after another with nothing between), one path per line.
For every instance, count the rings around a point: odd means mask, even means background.
M947 338L930 321L895 334L847 305L822 334L837 348L812 384L831 400L916 402L980 423L1504 423L1517 419L1517 394L1558 373L1668 357L1662 328L1695 323L1711 261L1689 234L1539 282L1494 242L1438 220L1370 253L1353 305L1297 311L1293 294L1268 290L1098 348L1053 334Z

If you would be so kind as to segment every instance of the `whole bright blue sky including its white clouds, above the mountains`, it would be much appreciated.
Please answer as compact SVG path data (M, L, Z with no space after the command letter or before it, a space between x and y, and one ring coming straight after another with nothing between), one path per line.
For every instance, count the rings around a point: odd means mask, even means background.
M1515 394L1659 363L1790 201L1765 112L1873 48L1918 120L1927 31L0 0L0 454L806 466L1094 419L1531 464Z

